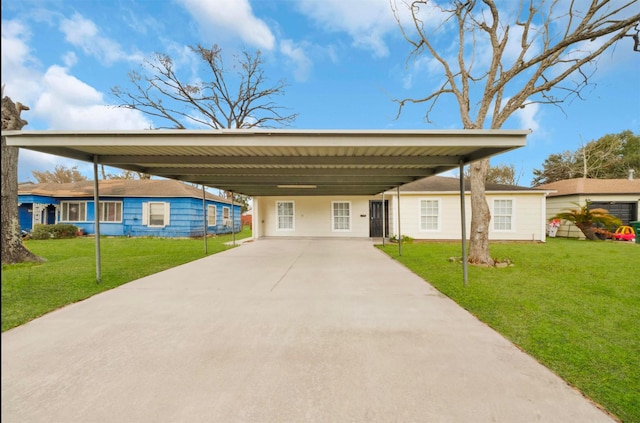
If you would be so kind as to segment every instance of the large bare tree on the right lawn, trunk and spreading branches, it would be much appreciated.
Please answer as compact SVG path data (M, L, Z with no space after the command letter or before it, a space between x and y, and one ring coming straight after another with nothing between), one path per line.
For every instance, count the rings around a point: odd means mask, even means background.
M528 105L560 107L580 98L602 53L625 37L638 48L637 0L522 0L517 10L505 9L511 2L498 7L494 0L402 4L411 14L408 24L397 0L391 0L413 48L410 58L432 58L444 79L425 97L395 100L398 115L408 103L424 103L430 122L438 100L453 96L464 129L500 129ZM484 190L488 166L488 160L471 164L471 263L493 264Z

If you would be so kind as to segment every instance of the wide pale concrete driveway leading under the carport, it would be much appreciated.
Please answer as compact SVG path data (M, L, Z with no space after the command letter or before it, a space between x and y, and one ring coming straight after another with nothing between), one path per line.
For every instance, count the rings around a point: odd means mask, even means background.
M369 240L263 239L2 334L2 422L613 422Z

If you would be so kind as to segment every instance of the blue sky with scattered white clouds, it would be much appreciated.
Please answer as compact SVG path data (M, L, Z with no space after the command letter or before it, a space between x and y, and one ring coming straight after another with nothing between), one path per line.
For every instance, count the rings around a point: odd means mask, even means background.
M198 43L218 44L229 57L259 49L269 81L287 83L275 100L299 114L293 128L462 128L457 106L446 101L432 123L424 104L396 118L393 98L423 97L441 75L408 61L410 45L388 0L2 0L2 84L31 108L24 129L147 129L149 117L111 107L111 88L130 87L128 72L154 52L193 67L188 46ZM491 163L513 164L519 184L529 186L550 154L609 133L640 133L639 74L640 54L623 40L601 56L583 99L514 115L503 128L531 129L527 146ZM18 178L34 180L33 170L58 164L92 177L91 164L22 150Z

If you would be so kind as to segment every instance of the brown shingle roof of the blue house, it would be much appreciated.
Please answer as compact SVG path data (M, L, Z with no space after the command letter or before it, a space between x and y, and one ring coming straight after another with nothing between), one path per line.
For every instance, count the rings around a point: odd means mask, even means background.
M20 184L18 195L46 195L50 197L93 197L93 181L66 184ZM174 197L202 199L202 189L171 179L106 179L98 181L100 197ZM230 203L220 196L205 192L206 198Z

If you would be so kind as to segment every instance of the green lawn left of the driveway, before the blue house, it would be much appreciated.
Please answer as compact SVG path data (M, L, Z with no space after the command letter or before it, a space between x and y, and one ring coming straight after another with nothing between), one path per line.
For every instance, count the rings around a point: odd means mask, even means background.
M251 236L246 227L236 240ZM210 237L208 255L233 248L231 235ZM96 281L95 238L27 240L44 263L2 265L2 332L67 304L135 279L205 257L199 239L100 239L101 280Z

